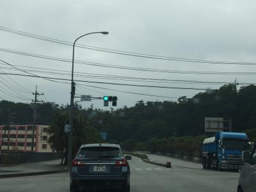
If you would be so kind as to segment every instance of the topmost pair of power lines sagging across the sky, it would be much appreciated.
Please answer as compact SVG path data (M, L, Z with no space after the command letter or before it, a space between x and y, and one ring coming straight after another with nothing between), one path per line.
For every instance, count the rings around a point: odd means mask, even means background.
M26 33L26 32L18 31L15 29L5 28L3 26L0 26L0 30L6 31L9 33L14 33L17 35L27 36L29 38L44 40L44 41L52 42L52 43L56 43L56 44L69 45L69 46L73 45L72 42L58 40L56 38L48 38L46 36L35 35L32 33ZM210 64L224 64L224 65L256 65L256 63L250 63L250 62L198 60L198 59L191 59L191 58L158 56L155 54L143 54L143 53L139 53L139 52L121 51L121 50L117 50L117 49L106 49L106 48L102 48L102 47L93 47L93 46L82 45L82 44L77 44L76 47L83 48L83 49L90 49L93 51L109 52L109 53L113 53L113 54L121 54L121 55L125 55L125 56L134 56L134 57L140 57L140 58L149 58L149 59L154 59L154 60L169 60L169 61L182 61L182 62L190 62L190 63L210 63Z

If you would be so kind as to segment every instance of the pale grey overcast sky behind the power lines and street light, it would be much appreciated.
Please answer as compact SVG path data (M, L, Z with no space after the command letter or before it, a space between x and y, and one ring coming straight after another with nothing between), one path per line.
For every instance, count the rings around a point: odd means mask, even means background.
M72 46L17 35L7 32L6 28L67 42L74 42L78 36L86 33L108 31L109 35L84 36L77 44L164 57L256 63L255 1L1 0L0 10L0 59L37 76L70 79L71 63L4 51L10 49L71 60ZM256 72L255 65L157 60L79 47L76 47L75 60L83 61L82 64L76 63L74 67L76 72L74 78L81 81L202 89L219 88L222 84L191 84L182 81L233 83L237 79L238 83L256 83L255 75L239 74L241 72ZM2 73L25 74L4 65L3 62L0 63L0 72ZM84 65L88 63L137 69ZM148 72L138 70L138 68L154 68L169 70L169 72ZM179 73L173 72L177 70ZM231 74L184 73L188 71L231 72ZM234 72L238 72L238 74L234 74ZM136 81L134 81L134 78L122 80L120 77L113 76L147 78L148 80L135 79ZM181 81L156 81L153 79ZM62 82L67 83L68 81ZM204 92L204 90L147 88L88 82L79 84L79 87L76 88L77 96L79 94L93 97L116 95L118 108L125 105L133 106L136 101L141 99L145 101L177 100L177 97L183 95L193 97L198 92ZM83 87L81 84L84 84ZM35 77L3 74L0 76L0 88L3 91L0 92L0 97L15 102L30 102L29 99L33 99L31 92L35 91L36 85L38 92L45 94L45 97L41 96L40 99L57 104L67 104L70 100L69 84ZM91 104L97 108L103 108L102 100L83 102L83 107L86 108Z

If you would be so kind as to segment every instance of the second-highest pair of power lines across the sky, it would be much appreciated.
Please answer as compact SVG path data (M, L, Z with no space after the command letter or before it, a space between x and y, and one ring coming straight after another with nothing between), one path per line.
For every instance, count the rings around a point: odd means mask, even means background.
M35 58L42 58L47 60L54 60L54 61L63 61L67 63L71 63L72 60L65 59L65 58L56 58L52 56L45 56L41 54L32 54L29 52L21 52L21 51L15 51L11 49L3 49L0 48L0 51L4 52L11 52L13 54L20 54L24 56L31 56ZM205 71L184 71L184 70L162 70L157 68L141 68L141 67L128 67L128 66L120 66L120 65L108 65L108 64L102 64L102 63L93 63L93 62L86 62L86 61L77 61L75 60L74 63L80 64L80 65L92 65L95 67L108 67L108 68L118 68L118 69L124 69L124 70L137 70L137 71L145 71L145 72L159 72L159 73L170 73L170 74L196 74L196 75L255 75L255 72L205 72ZM253 64L254 65L254 64ZM255 63L256 65L256 63Z

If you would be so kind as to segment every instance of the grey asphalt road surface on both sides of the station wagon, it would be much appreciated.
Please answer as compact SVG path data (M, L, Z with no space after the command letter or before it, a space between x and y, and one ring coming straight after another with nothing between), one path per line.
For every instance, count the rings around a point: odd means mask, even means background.
M150 155L150 158L152 157L161 161L168 158ZM131 191L236 191L239 173L202 170L200 164L179 159L171 159L171 161L172 169L143 163L138 157L133 157L129 162ZM68 192L68 185L68 173L0 179L1 192Z

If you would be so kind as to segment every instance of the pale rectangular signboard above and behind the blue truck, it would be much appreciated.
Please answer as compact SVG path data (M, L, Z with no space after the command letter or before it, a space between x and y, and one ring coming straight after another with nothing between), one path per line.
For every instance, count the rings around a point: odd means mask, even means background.
M219 132L224 129L224 120L220 117L205 117L205 132Z

